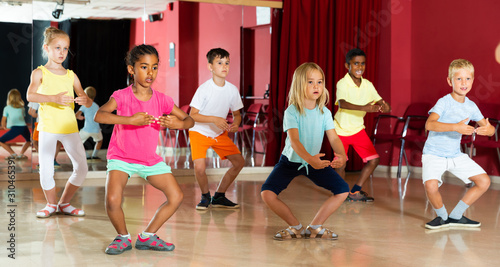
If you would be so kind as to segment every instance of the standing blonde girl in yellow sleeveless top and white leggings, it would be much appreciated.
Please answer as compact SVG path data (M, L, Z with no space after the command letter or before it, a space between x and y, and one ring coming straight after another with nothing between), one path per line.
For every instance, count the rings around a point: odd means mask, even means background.
M31 83L27 93L29 102L40 103L38 157L40 184L47 205L38 211L36 216L47 218L56 211L71 216L84 216L83 210L69 203L83 184L88 171L85 149L78 134L74 103L90 107L92 101L83 91L76 74L62 65L69 51L68 34L49 27L45 30L44 37L43 51L48 57L47 64L31 73ZM73 173L66 183L59 203L54 181L54 155L58 141L64 146L73 164Z

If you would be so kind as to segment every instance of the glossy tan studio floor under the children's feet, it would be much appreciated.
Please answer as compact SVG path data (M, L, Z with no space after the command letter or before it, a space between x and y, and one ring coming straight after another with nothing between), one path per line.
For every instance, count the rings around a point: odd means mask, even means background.
M349 173L353 184L358 173ZM227 195L240 210L198 212L200 191L193 176L177 177L185 198L158 235L176 245L173 252L132 249L122 255L104 253L116 233L104 210L105 179L87 179L74 198L87 216L57 215L37 219L45 205L36 181L15 182L15 196L0 182L0 265L7 266L496 266L500 249L500 195L492 187L468 209L466 216L481 221L480 229L427 231L434 218L420 179L410 179L404 200L397 182L377 174L365 186L374 203L344 203L325 226L337 241L275 241L272 235L286 225L263 204L260 188L267 174L240 175ZM219 176L210 177L210 188ZM65 181L58 180L62 187ZM11 186L12 188L12 186ZM451 210L464 194L463 185L441 187ZM60 191L59 191L60 194ZM302 224L308 224L328 193L304 177L295 179L281 198ZM9 200L13 199L13 203ZM135 242L164 196L140 178L125 190L127 226ZM10 213L9 213L10 212ZM15 229L8 228L15 226ZM9 230L8 230L9 229ZM11 242L14 241L14 242ZM15 260L8 258L14 255ZM41 263L41 264L40 264ZM13 264L13 265L12 265Z

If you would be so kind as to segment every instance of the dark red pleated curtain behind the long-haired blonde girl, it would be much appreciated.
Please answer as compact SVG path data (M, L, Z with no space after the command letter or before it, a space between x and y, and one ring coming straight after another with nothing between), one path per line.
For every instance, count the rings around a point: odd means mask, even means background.
M380 24L377 21L381 0L284 0L283 9L273 10L271 41L271 88L269 142L266 165L275 165L281 155L286 135L283 113L295 69L304 62L315 62L325 72L325 85L330 92L328 108L335 112L335 85L347 70L345 53L358 47L367 54L365 78L377 86L376 62ZM365 117L371 133L373 119ZM322 151L332 159L327 142ZM361 169L362 162L350 153L347 169Z

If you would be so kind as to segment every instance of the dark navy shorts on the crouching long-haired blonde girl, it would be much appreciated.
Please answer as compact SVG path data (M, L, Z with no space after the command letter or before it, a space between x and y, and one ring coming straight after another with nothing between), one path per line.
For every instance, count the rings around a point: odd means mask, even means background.
M286 156L281 155L280 161L262 185L262 191L270 190L279 195L295 177L304 175L317 186L330 190L334 195L349 192L349 185L332 167L317 170L308 164L309 174L307 174L305 167L298 170L300 166L302 164L290 162Z

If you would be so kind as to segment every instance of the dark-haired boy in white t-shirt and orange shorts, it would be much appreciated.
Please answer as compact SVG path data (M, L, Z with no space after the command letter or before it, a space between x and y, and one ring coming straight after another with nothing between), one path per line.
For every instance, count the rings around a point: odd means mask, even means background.
M227 199L225 193L240 173L245 160L238 147L228 137L228 132L238 131L243 103L238 88L226 81L229 53L222 48L214 48L207 53L207 60L212 79L198 87L189 104L189 115L195 121L194 127L189 130L191 152L196 180L202 193L196 209L206 210L210 206L237 209L240 206ZM226 120L229 110L233 113L232 124ZM233 165L222 177L213 197L210 197L205 173L205 157L210 147L221 159L227 158Z

